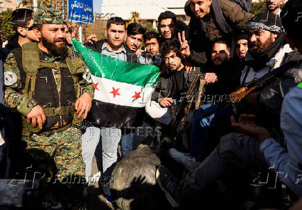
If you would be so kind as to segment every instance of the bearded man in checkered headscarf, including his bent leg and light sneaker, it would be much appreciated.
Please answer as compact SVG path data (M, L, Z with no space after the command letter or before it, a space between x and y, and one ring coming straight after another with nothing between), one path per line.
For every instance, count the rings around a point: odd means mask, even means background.
M264 19L267 21L263 21ZM241 76L239 76L240 81L238 81L238 83L240 82L241 85L245 85L251 80L265 76L270 71L285 64L285 62L301 59L301 55L297 51L292 51L289 44L284 44L281 19L277 15L271 12L260 13L249 21L247 30L251 43L249 49L251 58L247 60L247 66L245 66ZM295 78L294 75L296 75L296 73L290 74L290 81L294 80L295 82L299 82L299 75L297 75L298 78ZM260 103L262 103L268 94L269 91L265 94L259 94L260 97L257 96L256 93L250 94L249 97L247 97L247 103L253 107L258 106L256 102L260 100ZM204 105L199 107L197 114L195 114L196 123L194 123L191 133L190 155L197 161L205 159L217 145L217 141L213 141L213 138L211 139L213 134L209 131L210 128L211 130L215 130L215 139L217 140L231 130L230 115L233 113L231 108L224 108L216 112L215 116L213 114L209 118L199 119L202 112L211 112L214 108L215 105ZM215 125L213 125L213 123L215 123ZM211 139L211 141L209 141L209 139ZM211 146L209 146L209 144L211 144ZM181 161L186 167L190 165L196 166L196 164L192 163L192 158L183 155L181 152L177 152L177 150L172 149L170 155L172 155L174 159ZM192 167L189 168L192 170Z

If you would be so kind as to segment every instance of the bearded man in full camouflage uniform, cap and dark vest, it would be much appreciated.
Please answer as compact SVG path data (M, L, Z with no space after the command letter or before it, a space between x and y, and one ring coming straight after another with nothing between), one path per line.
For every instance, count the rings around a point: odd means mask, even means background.
M76 125L91 108L94 86L82 78L88 70L84 62L66 46L60 11L38 9L31 29L39 43L12 51L4 64L6 103L21 115L26 154L44 180L74 186L69 178L85 177Z

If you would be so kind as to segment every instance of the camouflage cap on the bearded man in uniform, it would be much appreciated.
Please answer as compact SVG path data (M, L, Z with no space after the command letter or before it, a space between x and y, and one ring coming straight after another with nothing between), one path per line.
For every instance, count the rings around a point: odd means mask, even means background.
M62 12L53 8L38 8L33 15L33 24L62 24Z

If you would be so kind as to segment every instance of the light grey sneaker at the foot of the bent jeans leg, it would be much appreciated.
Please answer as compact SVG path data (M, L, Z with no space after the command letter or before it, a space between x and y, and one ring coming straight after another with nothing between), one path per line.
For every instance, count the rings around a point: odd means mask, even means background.
M188 170L189 172L193 172L197 166L199 166L199 162L196 161L195 157L190 156L190 153L179 152L175 148L171 148L168 150L168 154L172 159L177 161L177 163L181 164Z

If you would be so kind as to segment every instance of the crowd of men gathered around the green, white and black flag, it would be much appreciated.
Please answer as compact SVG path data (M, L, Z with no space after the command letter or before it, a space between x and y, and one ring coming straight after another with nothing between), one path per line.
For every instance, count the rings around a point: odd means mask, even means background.
M222 188L235 192L230 200L238 196L229 203L233 209L253 196L247 209L288 208L302 195L302 2L290 0L281 9L283 0L267 0L267 9L257 15L249 13L251 2L240 2L245 3L188 0L188 26L166 11L158 17L158 33L112 17L105 40L90 35L84 44L123 62L159 67L152 102L158 105L155 112L170 114L155 119L144 113L141 125L127 124L161 127L159 141L170 135L179 103L195 76L203 74L203 105L179 125L188 131L181 140L186 146L164 147L186 175L179 181L181 175L163 165L154 175L172 207L218 208L199 200L224 195ZM106 104L94 100L97 86L73 51L75 32L60 11L17 9L11 23L16 33L0 50L0 176L37 179L38 172L42 209L85 208L83 191L91 180L114 202L114 166L147 134L121 128L124 122L111 121ZM279 67L287 69L276 80L257 84L239 105L225 105L233 91ZM102 167L91 175L99 144ZM263 184L268 174L277 177L274 189L271 180ZM253 186L261 190L251 196L246 191ZM208 193L213 189L219 190Z

